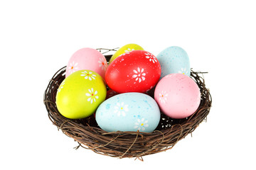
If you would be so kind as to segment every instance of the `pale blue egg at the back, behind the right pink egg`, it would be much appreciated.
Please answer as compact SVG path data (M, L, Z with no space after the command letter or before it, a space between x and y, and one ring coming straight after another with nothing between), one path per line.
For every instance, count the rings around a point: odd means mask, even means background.
M161 64L161 78L172 73L186 74L191 73L188 54L181 47L167 47L156 56Z

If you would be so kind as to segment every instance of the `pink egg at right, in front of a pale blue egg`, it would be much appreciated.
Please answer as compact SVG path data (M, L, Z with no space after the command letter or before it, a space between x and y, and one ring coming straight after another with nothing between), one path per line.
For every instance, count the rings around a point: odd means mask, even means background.
M169 74L156 85L154 99L170 118L187 118L195 113L201 93L193 79L184 74Z

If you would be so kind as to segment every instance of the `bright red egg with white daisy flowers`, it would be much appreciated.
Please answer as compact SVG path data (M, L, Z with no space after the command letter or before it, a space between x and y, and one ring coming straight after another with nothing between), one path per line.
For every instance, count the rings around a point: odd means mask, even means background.
M119 94L149 91L159 81L161 66L154 55L144 50L126 52L107 67L105 79Z

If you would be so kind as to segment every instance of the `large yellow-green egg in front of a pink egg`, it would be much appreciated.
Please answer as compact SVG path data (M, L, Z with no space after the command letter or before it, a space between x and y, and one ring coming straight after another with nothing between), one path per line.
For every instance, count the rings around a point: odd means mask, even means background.
M66 118L86 118L95 113L106 94L107 88L99 74L80 70L70 74L60 84L56 105L60 114Z

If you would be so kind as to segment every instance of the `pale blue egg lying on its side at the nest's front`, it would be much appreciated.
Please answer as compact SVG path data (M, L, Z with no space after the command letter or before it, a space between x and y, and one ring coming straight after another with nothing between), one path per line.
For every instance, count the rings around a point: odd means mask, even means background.
M108 98L96 111L97 124L107 132L152 132L160 121L156 101L142 93L124 93Z

